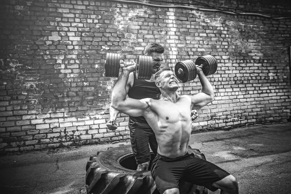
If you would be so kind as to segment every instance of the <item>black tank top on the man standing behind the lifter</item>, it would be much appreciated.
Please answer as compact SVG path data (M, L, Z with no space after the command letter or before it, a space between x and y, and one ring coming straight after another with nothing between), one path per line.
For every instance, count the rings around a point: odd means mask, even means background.
M134 99L143 99L143 98L153 98L160 99L160 89L156 86L155 82L148 82L145 80L136 79L134 72L133 85L129 89L128 96ZM129 124L131 121L139 123L147 123L145 117L143 116L129 116Z

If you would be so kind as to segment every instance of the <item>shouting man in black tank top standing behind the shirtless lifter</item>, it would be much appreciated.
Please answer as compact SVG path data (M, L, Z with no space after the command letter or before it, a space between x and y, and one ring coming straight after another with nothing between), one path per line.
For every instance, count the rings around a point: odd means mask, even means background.
M126 91L129 97L134 99L160 98L161 92L154 82L154 75L164 60L163 52L164 48L158 43L150 43L146 46L144 54L151 56L153 59L153 74L150 80L139 80L136 79L136 72L131 72L126 85ZM110 120L107 122L108 129L115 130L117 128L115 120L118 114L118 111L110 107ZM197 114L193 114L192 118L194 119L197 116ZM137 170L148 170L149 161L151 160L149 146L155 155L158 149L155 133L149 127L143 116L129 116L129 130L130 143L137 162Z

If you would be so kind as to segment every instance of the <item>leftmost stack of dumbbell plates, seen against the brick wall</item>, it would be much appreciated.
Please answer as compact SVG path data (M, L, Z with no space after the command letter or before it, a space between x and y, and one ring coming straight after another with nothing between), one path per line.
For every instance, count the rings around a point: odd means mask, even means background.
M120 68L120 54L107 53L104 67L105 77L118 78Z

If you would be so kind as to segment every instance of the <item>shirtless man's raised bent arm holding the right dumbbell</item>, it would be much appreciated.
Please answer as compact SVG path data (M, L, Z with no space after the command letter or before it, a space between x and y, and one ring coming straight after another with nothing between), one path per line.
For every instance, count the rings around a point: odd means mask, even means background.
M197 74L202 85L202 90L200 93L194 96L191 96L192 104L193 104L192 109L199 109L207 105L208 103L212 102L214 99L214 92L213 92L212 85L207 80L202 69L197 68Z

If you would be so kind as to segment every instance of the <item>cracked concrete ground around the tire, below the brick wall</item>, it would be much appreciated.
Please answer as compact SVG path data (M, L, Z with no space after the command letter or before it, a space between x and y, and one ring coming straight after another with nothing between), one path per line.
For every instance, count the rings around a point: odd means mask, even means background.
M86 194L89 157L122 144L1 156L0 194ZM291 123L197 133L190 145L234 175L240 194L291 193Z

